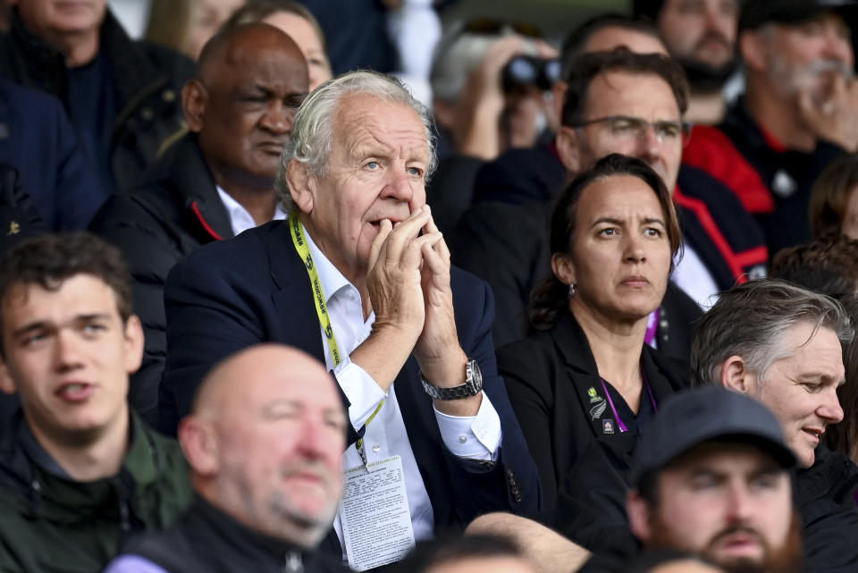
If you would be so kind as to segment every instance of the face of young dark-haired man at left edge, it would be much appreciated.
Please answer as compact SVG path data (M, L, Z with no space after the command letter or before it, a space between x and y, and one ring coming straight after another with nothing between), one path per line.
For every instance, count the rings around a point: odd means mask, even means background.
M105 282L78 274L55 291L21 284L2 305L3 387L20 394L34 434L68 441L127 423L143 334L136 316L122 323Z

